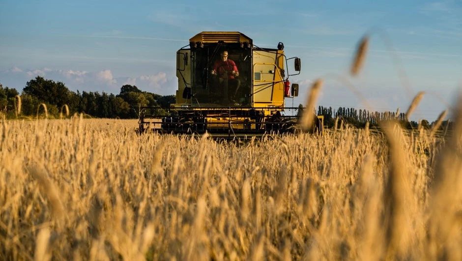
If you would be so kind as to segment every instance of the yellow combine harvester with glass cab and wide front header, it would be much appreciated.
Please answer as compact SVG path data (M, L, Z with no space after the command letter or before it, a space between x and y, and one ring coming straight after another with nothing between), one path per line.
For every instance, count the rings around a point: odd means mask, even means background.
M201 32L176 52L176 103L141 107L139 131L215 137L293 132L299 108L285 107L284 100L298 96L289 76L300 68L300 58L287 58L281 42L277 49L260 48L240 32ZM322 133L322 116L316 126Z

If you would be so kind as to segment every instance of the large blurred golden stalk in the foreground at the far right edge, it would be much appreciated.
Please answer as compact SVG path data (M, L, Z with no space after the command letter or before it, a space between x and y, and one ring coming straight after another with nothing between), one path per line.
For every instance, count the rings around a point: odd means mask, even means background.
M438 159L431 187L429 260L462 258L462 97L454 118L454 132Z

